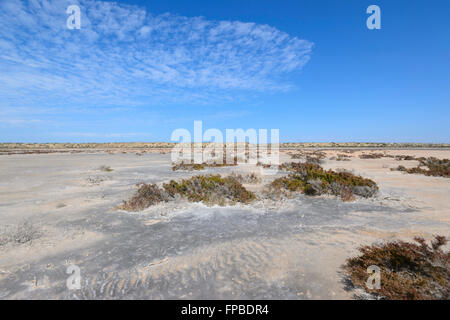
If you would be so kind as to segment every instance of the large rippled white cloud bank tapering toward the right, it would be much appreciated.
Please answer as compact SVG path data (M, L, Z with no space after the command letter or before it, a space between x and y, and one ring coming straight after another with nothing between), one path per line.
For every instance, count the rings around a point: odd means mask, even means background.
M66 27L72 4L81 30ZM1 0L0 107L233 101L289 90L311 48L256 23L95 0Z

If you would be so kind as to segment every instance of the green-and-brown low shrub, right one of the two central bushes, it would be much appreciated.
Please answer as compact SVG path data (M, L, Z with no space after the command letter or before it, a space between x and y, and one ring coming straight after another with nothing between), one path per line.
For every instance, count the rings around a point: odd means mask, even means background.
M271 188L307 195L332 194L344 201L353 200L353 195L372 197L378 191L376 183L356 176L348 171L324 170L315 163L285 163L281 169L291 171L288 176L275 179Z

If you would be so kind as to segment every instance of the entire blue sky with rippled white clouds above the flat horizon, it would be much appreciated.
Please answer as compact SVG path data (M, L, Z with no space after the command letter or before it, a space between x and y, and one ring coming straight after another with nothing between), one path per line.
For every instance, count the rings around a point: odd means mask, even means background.
M66 27L68 5L81 29ZM381 8L368 30L366 8ZM0 1L0 142L450 142L450 2Z

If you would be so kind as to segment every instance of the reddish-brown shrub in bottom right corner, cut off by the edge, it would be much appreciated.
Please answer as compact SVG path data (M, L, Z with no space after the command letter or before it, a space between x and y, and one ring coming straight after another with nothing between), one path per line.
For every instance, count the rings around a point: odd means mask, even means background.
M384 299L444 299L450 298L450 252L441 248L447 243L436 236L431 246L423 238L415 243L395 241L383 245L363 246L361 255L349 258L344 270L353 286ZM378 266L380 289L369 289L367 268Z

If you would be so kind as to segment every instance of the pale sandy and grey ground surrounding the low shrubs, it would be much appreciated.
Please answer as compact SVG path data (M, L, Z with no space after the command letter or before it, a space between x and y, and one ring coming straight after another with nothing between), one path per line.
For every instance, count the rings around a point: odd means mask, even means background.
M198 172L172 172L169 154L0 156L2 230L27 220L41 234L0 247L0 299L351 299L340 266L358 246L450 236L450 179L391 171L416 162L362 160L361 152L323 166L373 179L380 186L374 199L299 195L232 207L177 201L140 213L115 209L136 183ZM449 150L370 152L450 158ZM258 169L206 173L232 171ZM66 287L71 264L81 269L80 290Z

